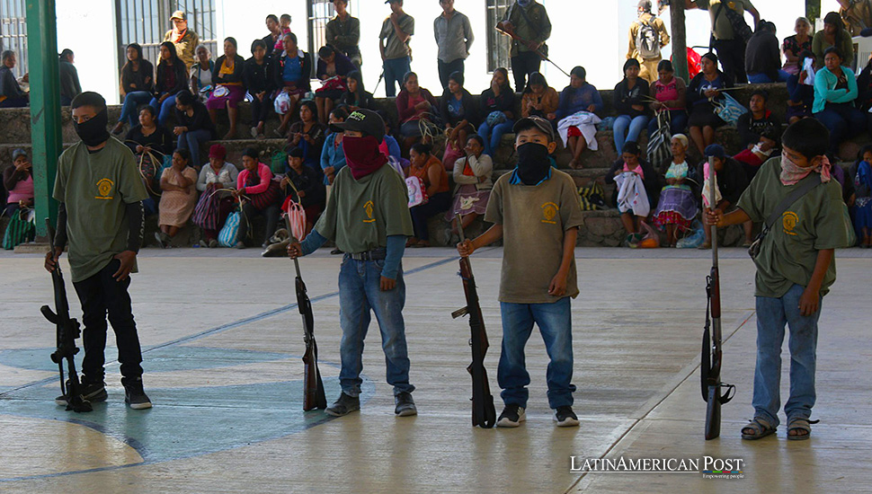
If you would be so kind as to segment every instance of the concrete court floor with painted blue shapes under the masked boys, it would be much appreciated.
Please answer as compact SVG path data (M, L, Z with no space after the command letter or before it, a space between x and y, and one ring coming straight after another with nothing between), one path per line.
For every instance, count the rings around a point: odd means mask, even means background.
M49 275L40 256L0 253L0 492L872 492L863 473L872 463L872 252L837 253L839 279L823 302L818 348L814 418L822 422L805 442L787 442L783 426L778 437L739 438L752 417L755 339L753 266L742 250L721 256L723 377L738 393L724 406L722 436L708 442L698 353L709 252L578 249L574 409L582 425L554 427L547 356L534 332L528 421L492 430L469 423L468 325L450 318L464 304L454 252L407 252L405 322L419 415L406 419L393 415L375 322L360 413L326 419L300 409L293 265L254 250L143 251L131 293L155 408L124 406L110 336L109 401L90 414L67 412L51 401L54 329L39 313L51 301ZM501 255L473 257L497 413ZM301 267L333 401L339 260L322 250ZM68 278L67 289L80 317ZM783 395L787 365L784 376ZM743 478L570 472L572 456L741 458Z

